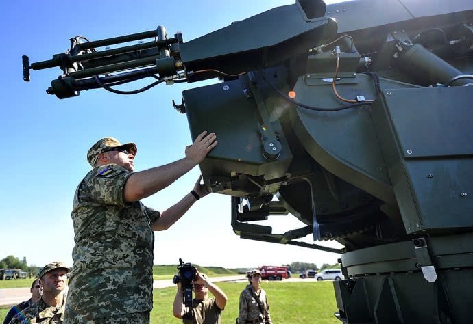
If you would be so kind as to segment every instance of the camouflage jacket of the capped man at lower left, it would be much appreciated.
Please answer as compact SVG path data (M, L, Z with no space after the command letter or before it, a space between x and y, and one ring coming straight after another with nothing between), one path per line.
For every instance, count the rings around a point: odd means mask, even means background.
M64 321L65 304L65 296L60 307L49 307L41 298L32 306L16 314L10 324L60 324Z

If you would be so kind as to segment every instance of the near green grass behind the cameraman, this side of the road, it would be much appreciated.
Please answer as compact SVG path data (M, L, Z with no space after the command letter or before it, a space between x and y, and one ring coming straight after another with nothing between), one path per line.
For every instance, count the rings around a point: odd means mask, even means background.
M245 283L219 282L228 296L222 312L223 324L233 324L238 316L239 296ZM337 310L332 282L263 282L268 295L269 312L275 324L336 324L333 313ZM155 289L151 323L182 323L172 314L175 288ZM8 308L0 308L3 320Z

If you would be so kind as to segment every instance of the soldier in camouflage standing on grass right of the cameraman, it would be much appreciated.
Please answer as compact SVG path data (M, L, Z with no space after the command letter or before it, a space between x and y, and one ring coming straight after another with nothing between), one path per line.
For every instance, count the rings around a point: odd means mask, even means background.
M260 287L261 273L258 269L248 274L250 284L241 292L238 323L272 324L266 292Z

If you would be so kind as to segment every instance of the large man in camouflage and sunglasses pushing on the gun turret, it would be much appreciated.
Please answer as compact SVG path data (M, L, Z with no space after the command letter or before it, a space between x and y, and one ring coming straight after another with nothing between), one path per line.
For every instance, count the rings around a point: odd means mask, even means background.
M193 191L159 213L140 200L171 185L216 145L204 131L185 157L134 172L136 145L100 139L88 151L90 171L75 191L73 270L64 323L149 323L153 307L154 230L166 230L208 193Z

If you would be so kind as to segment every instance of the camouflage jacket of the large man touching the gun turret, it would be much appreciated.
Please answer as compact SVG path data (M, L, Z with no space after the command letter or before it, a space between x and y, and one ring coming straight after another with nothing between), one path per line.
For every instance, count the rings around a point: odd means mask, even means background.
M152 224L160 213L139 201L123 201L132 174L119 165L101 165L75 191L74 265L65 323L153 307Z

